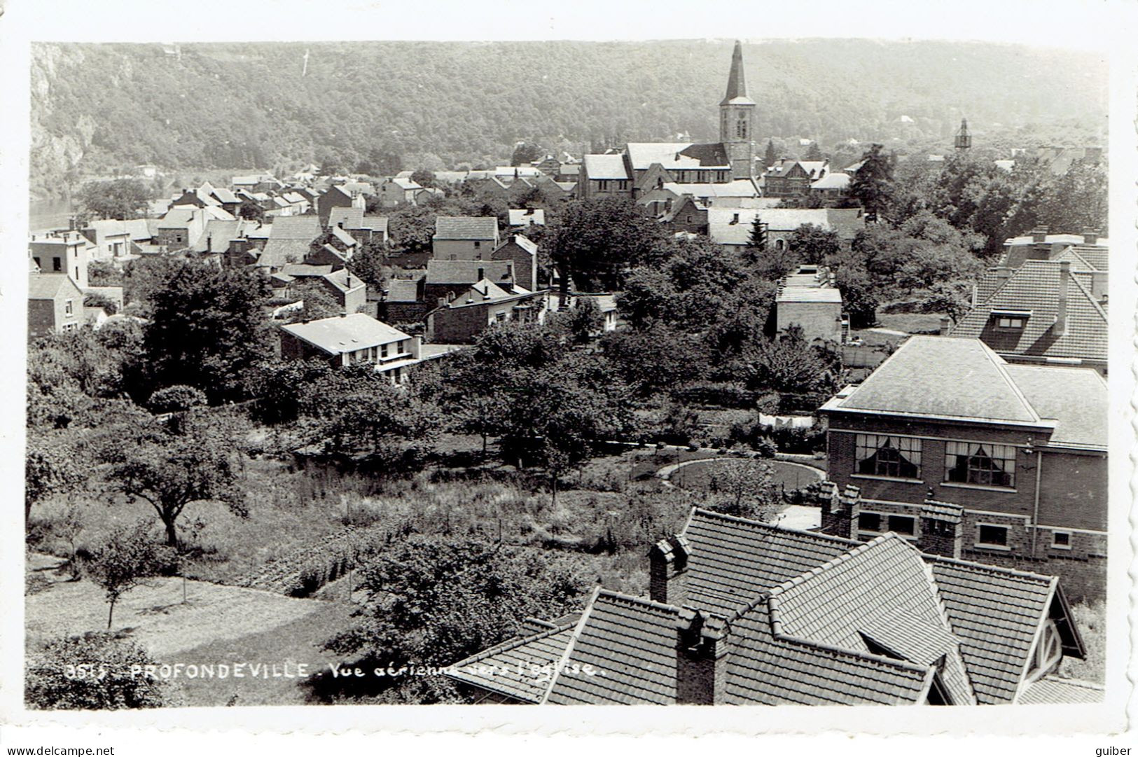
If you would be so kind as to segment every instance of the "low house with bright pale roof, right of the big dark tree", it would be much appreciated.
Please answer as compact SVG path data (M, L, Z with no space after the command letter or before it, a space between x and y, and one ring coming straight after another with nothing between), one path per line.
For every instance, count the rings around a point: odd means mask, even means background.
M322 318L280 327L281 357L327 360L336 368L374 365L393 382L406 379L419 362L420 339L364 313Z

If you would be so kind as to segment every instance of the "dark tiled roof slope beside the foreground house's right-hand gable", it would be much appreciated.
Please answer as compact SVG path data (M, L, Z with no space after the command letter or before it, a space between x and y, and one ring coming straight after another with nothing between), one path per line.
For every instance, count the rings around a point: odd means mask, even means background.
M960 640L976 701L1012 701L1057 579L963 560L925 559Z

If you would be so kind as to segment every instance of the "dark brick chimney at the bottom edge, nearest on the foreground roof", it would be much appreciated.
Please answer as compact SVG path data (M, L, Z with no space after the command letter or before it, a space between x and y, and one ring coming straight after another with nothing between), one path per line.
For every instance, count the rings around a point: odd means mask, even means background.
M676 703L723 705L727 699L727 644L723 618L682 608L676 619Z

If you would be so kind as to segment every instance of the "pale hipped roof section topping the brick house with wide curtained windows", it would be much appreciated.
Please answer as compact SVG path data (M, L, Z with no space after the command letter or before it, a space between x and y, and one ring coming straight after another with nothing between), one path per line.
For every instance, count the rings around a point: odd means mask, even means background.
M824 409L1047 426L1005 368L979 339L912 336L860 386Z

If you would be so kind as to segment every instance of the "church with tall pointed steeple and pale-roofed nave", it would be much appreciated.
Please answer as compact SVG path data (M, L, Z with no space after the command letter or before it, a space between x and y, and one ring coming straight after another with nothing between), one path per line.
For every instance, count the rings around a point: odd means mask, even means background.
M683 195L704 205L744 206L761 194L754 181L754 107L736 41L719 102L718 142L628 142L621 151L586 155L579 196L629 197L655 213Z

